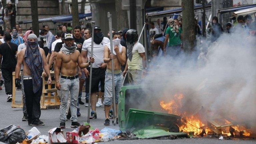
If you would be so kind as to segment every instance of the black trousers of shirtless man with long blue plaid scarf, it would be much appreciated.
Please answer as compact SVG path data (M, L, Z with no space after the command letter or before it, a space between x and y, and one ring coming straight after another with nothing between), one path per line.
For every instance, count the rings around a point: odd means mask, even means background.
M24 93L26 97L26 108L28 113L28 123L41 116L40 100L43 90L43 79L41 79L41 88L34 93L32 79L23 80Z

